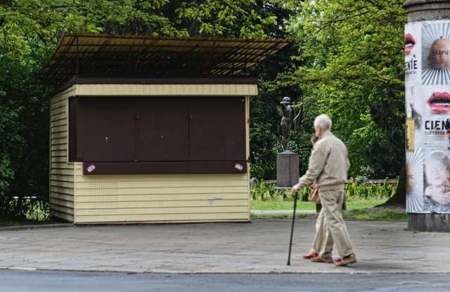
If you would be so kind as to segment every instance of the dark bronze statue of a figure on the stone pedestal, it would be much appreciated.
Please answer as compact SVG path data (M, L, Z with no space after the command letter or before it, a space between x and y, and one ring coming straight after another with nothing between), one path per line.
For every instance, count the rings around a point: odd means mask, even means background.
M288 151L289 150L289 135L290 130L293 127L294 122L294 129L297 130L297 128L300 128L301 121L302 121L302 115L303 115L303 104L300 103L298 105L291 105L290 104L290 98L288 96L285 96L281 102L281 111L283 114L283 117L281 118L281 135L283 136L282 144L283 144L283 150ZM297 116L293 119L293 111L295 109L299 109Z

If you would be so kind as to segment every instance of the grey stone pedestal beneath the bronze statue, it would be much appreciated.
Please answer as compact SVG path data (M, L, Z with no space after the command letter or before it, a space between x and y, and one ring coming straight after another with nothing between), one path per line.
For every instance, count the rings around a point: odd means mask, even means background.
M298 154L286 150L276 155L276 186L292 187L298 183Z

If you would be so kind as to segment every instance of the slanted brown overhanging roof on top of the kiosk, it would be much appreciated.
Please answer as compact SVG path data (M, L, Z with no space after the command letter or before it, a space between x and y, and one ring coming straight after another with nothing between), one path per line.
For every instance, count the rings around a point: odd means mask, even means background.
M201 39L64 34L39 84L72 77L205 79L249 77L248 68L290 44L287 40Z

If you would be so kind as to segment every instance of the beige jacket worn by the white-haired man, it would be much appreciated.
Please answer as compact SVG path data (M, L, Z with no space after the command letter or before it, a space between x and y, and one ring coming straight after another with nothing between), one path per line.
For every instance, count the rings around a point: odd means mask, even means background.
M314 144L307 173L299 180L300 188L314 182L320 190L343 188L349 166L347 147L339 138L327 131Z

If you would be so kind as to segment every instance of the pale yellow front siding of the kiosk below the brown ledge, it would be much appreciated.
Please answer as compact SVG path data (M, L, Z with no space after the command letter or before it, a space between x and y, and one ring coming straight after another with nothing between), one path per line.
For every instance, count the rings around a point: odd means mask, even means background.
M76 223L248 221L248 174L83 175Z

